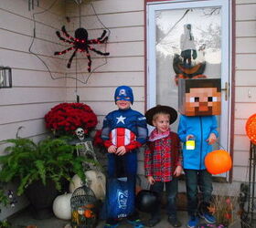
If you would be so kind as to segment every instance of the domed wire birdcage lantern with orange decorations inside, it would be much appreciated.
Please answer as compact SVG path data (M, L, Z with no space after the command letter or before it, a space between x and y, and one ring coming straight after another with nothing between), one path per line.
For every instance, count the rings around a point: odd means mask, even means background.
M71 225L73 228L94 228L97 223L97 199L92 190L81 186L73 192L71 200Z

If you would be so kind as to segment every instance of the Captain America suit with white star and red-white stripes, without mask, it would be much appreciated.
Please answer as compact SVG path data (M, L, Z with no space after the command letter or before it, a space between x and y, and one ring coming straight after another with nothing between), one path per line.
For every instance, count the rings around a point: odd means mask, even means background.
M108 154L109 176L136 175L137 155L135 149L141 147L147 138L144 115L133 109L112 111L103 120L101 138L104 140L106 148L115 145L117 147L124 146L126 149L123 156ZM116 163L116 161L119 162Z

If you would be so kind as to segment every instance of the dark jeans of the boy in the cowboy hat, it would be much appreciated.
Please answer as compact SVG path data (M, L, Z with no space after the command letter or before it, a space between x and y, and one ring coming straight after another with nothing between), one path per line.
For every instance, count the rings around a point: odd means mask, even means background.
M155 183L150 186L151 191L158 193L159 202L161 202L164 187L165 187L165 191L167 194L166 212L168 216L175 217L175 218L176 218L177 183L178 183L178 179L173 178L172 181L167 181L167 182L155 181ZM152 213L152 217L155 219L160 219L160 210L161 210L161 203L158 203L158 208L155 208L155 211Z

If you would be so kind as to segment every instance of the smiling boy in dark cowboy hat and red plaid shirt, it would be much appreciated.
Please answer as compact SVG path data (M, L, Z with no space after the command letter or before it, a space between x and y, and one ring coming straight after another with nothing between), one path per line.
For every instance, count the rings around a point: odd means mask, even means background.
M178 179L181 174L182 156L180 141L177 134L170 130L170 124L177 118L176 109L158 105L145 113L147 123L155 126L149 136L146 150L144 151L144 169L150 190L158 193L158 201L161 202L164 187L167 193L168 222L179 227L181 223L176 216L176 194ZM147 226L155 226L160 222L161 205L151 214Z

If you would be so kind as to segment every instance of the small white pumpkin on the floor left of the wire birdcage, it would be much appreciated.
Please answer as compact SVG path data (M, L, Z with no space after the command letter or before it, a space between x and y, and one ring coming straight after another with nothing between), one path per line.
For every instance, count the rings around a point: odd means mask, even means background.
M71 206L70 199L72 193L65 193L55 198L52 209L55 216L59 219L69 220L71 219Z

